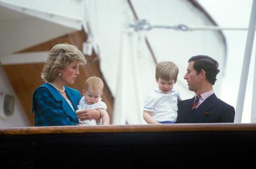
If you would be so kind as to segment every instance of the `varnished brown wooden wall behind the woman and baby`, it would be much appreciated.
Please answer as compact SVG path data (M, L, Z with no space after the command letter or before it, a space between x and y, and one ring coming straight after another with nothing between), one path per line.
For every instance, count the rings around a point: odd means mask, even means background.
M86 39L86 34L83 30L81 30L17 51L16 53L50 51L55 44L64 42L69 44L75 44L79 48L79 50L82 50L82 43L85 42ZM97 56L94 52L91 56L85 56L85 59L87 61L87 64L85 65L85 67L79 67L80 75L77 77L75 83L73 85L67 86L75 88L82 92L83 83L88 77L100 77L104 82L102 100L106 103L108 107L107 112L110 117L110 123L112 123L114 98L100 71L99 60L97 59ZM18 99L20 100L24 112L26 113L29 121L33 126L34 115L30 115L31 99L33 91L36 89L36 87L44 83L41 79L41 72L43 70L43 67L44 63L3 65L6 75L9 78L16 92Z

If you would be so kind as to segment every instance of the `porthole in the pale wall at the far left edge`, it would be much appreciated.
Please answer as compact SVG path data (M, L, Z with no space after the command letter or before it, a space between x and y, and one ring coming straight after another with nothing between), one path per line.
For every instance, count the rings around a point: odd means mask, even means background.
M0 93L0 116L10 117L14 112L14 97L10 94Z

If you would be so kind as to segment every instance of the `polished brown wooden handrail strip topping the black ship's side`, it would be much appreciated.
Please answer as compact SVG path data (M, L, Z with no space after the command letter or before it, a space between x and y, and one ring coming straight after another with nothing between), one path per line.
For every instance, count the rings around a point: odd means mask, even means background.
M72 133L135 133L135 132L226 132L256 131L256 124L172 124L172 125L107 125L12 127L0 129L0 135L72 134Z

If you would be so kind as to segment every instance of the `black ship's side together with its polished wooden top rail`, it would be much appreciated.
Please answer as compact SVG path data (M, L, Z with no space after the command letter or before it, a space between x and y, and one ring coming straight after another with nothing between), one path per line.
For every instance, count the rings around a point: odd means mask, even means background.
M253 164L256 124L14 127L0 129L5 167L137 168ZM121 166L118 163L122 163Z

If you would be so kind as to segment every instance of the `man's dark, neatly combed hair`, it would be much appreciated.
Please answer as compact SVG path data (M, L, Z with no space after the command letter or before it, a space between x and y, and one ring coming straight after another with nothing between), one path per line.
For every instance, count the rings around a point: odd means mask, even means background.
M204 70L206 73L206 80L214 85L217 80L216 75L219 73L218 62L206 55L192 56L189 59L189 62L191 61L194 61L193 68L196 70L197 74L200 73L201 70Z

